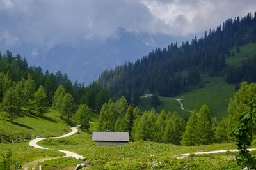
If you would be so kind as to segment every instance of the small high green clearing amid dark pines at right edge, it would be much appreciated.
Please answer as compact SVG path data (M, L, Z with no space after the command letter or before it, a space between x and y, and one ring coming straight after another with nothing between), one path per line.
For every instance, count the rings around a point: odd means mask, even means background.
M240 46L240 52L236 53L236 46L232 48L231 53L235 55L226 58L226 64L228 66L241 66L243 60L252 59L256 55L256 43L247 43L246 45Z

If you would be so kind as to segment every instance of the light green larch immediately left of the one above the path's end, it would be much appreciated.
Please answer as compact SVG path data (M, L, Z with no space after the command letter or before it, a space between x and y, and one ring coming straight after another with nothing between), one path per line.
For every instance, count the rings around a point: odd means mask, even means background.
M70 93L65 94L61 102L61 112L67 117L68 120L70 120L70 118L72 118L72 115L74 115L74 109L75 104L73 97Z

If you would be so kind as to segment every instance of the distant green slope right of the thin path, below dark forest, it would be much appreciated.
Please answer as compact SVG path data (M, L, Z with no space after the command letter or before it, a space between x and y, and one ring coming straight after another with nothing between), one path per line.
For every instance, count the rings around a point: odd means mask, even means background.
M224 78L220 77L207 78L205 81L209 83L205 83L203 88L191 90L175 98L181 98L184 108L188 110L199 111L203 104L207 104L218 120L227 117L228 102L233 96L234 85L225 83Z

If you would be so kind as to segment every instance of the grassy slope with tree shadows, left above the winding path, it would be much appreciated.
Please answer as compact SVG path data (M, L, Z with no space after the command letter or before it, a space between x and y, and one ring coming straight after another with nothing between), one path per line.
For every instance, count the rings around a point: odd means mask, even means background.
M50 110L44 118L26 115L9 122L0 112L0 139L1 142L22 141L36 137L60 136L70 132L70 126L65 119L58 117L56 111Z

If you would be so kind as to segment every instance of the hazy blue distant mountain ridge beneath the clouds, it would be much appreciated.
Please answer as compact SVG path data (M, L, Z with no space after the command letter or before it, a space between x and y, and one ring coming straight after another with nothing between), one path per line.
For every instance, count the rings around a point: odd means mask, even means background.
M0 51L4 53L11 50L13 55L20 53L22 57L26 57L29 65L41 66L43 71L48 69L53 73L60 70L68 73L73 82L77 80L88 84L97 80L106 69L113 69L127 60L134 62L157 46L182 40L184 38L178 36L129 32L118 28L115 36L103 43L80 38L76 45L55 45L47 49L45 46L22 41L15 46L6 47L0 41Z

